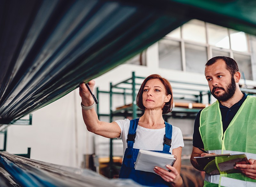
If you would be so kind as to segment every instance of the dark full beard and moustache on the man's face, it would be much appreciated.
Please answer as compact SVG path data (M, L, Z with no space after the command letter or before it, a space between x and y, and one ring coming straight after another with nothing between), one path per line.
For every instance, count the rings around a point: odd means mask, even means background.
M224 90L224 93L217 96L214 94L214 91L216 89ZM215 97L219 101L227 101L228 99L230 99L234 96L235 91L236 91L236 82L235 82L234 77L231 77L231 82L228 84L227 90L225 90L222 87L215 86L215 87L213 87L211 93L212 93L213 97Z

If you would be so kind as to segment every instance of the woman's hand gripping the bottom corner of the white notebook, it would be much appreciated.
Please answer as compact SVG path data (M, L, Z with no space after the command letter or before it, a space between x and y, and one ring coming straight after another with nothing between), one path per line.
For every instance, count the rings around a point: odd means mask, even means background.
M168 183L179 183L180 174L177 169L172 167L171 165L166 165L166 168L168 170L156 166L154 168L154 171L157 175L161 176L164 181Z

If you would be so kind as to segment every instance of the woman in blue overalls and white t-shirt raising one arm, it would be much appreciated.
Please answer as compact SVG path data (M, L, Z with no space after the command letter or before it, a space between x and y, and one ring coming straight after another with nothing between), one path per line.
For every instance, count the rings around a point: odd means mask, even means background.
M94 84L94 81L89 82L91 90ZM80 84L79 94L82 97L82 113L87 129L107 138L123 140L125 153L119 178L131 178L147 186L181 186L181 149L184 146L182 134L178 127L165 122L162 116L172 110L172 87L168 80L153 74L143 81L136 101L138 107L145 112L139 119L131 121L128 119L116 120L112 123L99 121L93 107L94 100L84 83ZM171 146L168 143L163 145L164 137L166 140L172 140ZM167 170L156 166L154 172L157 175L138 171L134 169L134 162L139 149L173 154L177 160L173 167L166 165Z

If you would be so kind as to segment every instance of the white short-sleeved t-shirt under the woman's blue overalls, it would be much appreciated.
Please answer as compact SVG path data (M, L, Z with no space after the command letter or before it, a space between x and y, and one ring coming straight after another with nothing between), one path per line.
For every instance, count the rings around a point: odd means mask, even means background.
M126 140L129 133L130 120L119 119L119 120L116 120L115 122L121 128L121 135L117 139L123 140L123 148L124 148L123 152L125 152L125 149L128 147ZM165 134L165 127L161 129L148 129L138 125L133 148L143 149L143 150L163 151L164 134ZM170 148L170 153L172 153L172 149L175 149L177 147L184 147L181 130L176 126L172 126L171 145L172 146Z

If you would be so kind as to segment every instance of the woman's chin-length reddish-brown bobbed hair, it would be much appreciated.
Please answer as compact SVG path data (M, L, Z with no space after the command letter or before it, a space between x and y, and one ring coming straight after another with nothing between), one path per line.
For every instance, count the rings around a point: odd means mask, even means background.
M160 75L157 75L157 74L152 74L150 76L148 76L144 81L143 83L141 84L140 86L140 90L138 92L138 95L137 95L137 98L136 98L136 102L137 102L137 106L142 109L142 110L145 110L145 106L143 105L142 103L142 94L143 94L143 91L144 91L144 87L146 85L146 83L148 82L148 80L150 79L159 79L163 84L164 84L164 88L166 90L166 95L171 95L172 96L172 86L171 84L169 83L168 80L166 80L165 78L161 77ZM167 114L169 112L172 111L172 104L173 104L173 97L171 97L170 101L169 102L166 102L164 104L164 107L163 107L163 112L162 114Z

